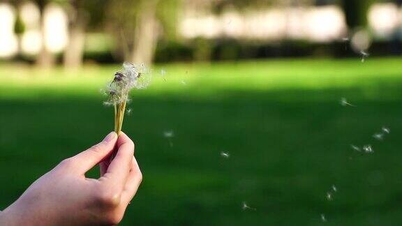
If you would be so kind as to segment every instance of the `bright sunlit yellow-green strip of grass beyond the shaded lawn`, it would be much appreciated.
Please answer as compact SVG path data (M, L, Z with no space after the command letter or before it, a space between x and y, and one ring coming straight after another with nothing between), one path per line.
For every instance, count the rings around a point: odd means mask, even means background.
M401 59L276 60L241 63L177 63L153 67L154 82L134 95L174 93L209 96L236 91L275 91L281 89L356 88L373 93L378 82L402 80ZM0 97L29 98L51 96L97 96L115 66L85 66L82 70L38 70L28 66L0 66ZM166 75L161 75L161 69ZM51 97L50 96L50 97ZM392 95L391 95L392 96Z

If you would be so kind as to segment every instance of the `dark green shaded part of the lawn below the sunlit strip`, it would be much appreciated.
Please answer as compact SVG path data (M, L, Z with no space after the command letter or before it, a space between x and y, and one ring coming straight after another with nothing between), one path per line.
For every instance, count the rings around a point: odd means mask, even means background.
M402 93L378 93L135 98L124 130L135 140L144 181L121 225L320 225L322 213L329 225L396 225ZM357 107L339 105L342 96ZM112 130L112 109L101 101L0 100L1 208ZM372 135L382 126L391 133L380 142ZM174 131L172 140L163 137L166 130ZM371 144L374 153L353 152L350 144ZM332 185L338 192L329 201ZM256 211L242 210L242 202Z

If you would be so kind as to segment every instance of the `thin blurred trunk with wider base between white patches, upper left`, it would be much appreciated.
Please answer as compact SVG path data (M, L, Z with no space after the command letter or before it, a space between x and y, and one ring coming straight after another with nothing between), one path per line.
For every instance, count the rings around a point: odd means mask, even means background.
M45 8L48 3L47 0L37 0L38 8L40 12L40 39L41 47L38 57L36 59L36 65L43 68L54 66L56 61L54 54L47 49L46 45L46 28L45 28Z

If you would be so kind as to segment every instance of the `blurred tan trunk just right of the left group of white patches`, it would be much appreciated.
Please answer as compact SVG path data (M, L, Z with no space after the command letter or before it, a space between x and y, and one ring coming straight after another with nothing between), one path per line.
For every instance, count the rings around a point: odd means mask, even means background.
M64 52L64 67L79 68L84 57L85 31L87 15L82 7L82 0L74 0L69 13L69 38Z

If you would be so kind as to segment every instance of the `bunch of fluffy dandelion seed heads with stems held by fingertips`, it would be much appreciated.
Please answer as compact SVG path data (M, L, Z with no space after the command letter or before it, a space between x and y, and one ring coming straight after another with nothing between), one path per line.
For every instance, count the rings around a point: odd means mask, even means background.
M105 93L108 96L105 105L114 106L114 132L119 134L123 125L128 93L131 89L145 89L151 81L149 70L142 63L123 63L123 70L114 73L112 82L107 85ZM129 110L131 112L131 110Z

